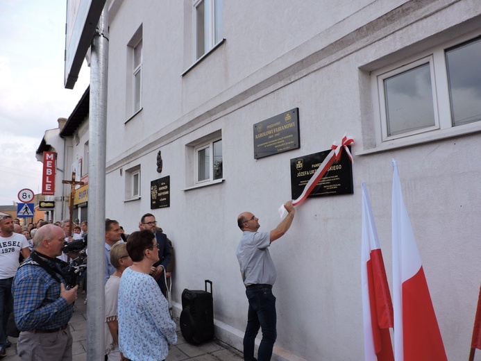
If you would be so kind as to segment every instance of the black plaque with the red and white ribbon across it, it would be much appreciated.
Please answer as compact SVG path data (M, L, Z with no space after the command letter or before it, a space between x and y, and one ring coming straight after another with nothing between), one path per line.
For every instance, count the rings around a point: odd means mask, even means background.
M351 150L351 146L349 146L349 150ZM329 153L330 150L321 151L291 159L292 199L297 199L302 194L305 185L314 176L314 173ZM343 150L339 162L334 162L330 166L308 198L353 193L353 163L346 151Z

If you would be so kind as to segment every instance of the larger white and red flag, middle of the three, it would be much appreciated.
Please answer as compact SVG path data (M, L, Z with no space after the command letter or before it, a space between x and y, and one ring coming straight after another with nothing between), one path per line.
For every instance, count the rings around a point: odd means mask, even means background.
M392 258L396 361L444 361L446 351L393 160Z

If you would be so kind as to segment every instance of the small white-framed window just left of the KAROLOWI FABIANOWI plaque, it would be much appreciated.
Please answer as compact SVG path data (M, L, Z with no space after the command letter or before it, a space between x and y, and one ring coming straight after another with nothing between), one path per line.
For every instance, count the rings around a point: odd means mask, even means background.
M222 140L196 147L196 183L222 179Z

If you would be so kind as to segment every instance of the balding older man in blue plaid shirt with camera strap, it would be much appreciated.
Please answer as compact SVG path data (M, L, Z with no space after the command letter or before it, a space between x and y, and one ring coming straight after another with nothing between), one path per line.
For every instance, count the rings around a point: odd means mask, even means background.
M64 275L68 265L56 258L64 242L58 226L47 224L37 230L35 250L13 280L15 322L21 331L17 351L22 360L72 359L69 321L77 286L68 289Z

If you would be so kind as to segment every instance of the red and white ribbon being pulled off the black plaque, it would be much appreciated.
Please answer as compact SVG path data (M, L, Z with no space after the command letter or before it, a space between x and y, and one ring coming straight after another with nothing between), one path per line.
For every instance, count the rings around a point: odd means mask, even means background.
M342 137L340 145L337 145L336 141L332 142L332 146L330 146L330 149L331 149L330 153L323 160L323 162L317 169L316 173L314 173L314 175L310 178L309 182L307 182L302 194L298 196L298 199L296 199L295 201L292 201L292 205L298 205L298 204L301 204L303 201L305 201L307 196L309 196L312 190L314 190L317 183L319 183L319 181L321 181L321 178L326 174L326 171L328 171L332 163L334 163L334 161L339 161L339 159L341 158L342 149L346 150L346 153L349 159L351 160L351 162L353 161L353 156L348 149L348 145L351 145L353 143L354 143L353 137L349 137L347 135L344 135L344 137ZM284 208L284 205L282 204L279 208L279 215L281 218L282 216L284 216L284 213L285 213L285 208Z

